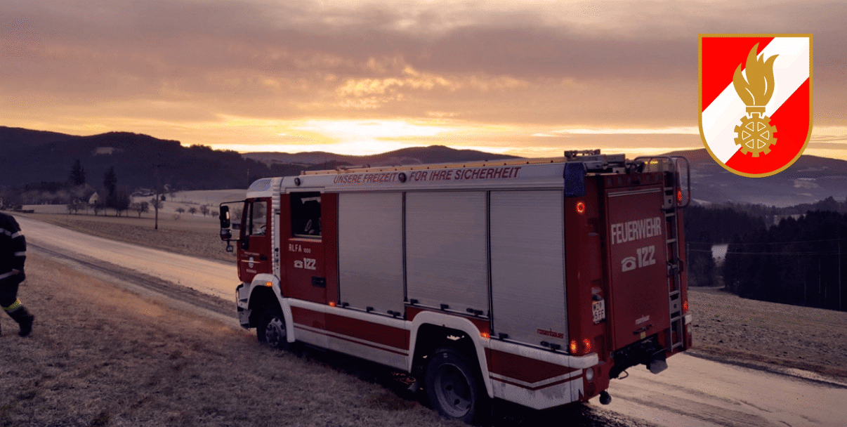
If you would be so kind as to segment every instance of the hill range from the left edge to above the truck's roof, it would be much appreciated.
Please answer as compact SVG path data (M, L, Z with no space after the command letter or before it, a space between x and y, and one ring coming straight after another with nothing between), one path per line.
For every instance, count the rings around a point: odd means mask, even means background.
M168 141L130 132L73 136L42 130L0 126L0 151L4 160L0 186L68 180L75 159L86 169L86 182L102 186L103 176L114 167L118 185L152 188L158 182L179 190L246 188L267 176L299 175L306 169L339 166L384 166L468 162L511 158L499 154L450 147L412 147L373 156L333 153L246 153L213 150L205 146L182 147ZM158 165L158 168L157 166Z

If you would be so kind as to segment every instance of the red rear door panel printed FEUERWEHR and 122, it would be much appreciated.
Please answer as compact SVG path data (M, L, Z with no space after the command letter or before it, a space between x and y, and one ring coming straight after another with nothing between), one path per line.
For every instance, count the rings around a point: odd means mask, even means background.
M606 190L615 349L666 330L667 245L662 187Z

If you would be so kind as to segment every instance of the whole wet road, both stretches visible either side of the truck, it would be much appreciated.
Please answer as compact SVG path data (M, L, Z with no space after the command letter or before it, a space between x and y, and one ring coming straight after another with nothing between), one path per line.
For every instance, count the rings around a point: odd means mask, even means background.
M150 278L147 282L152 287L147 286L148 291L174 293L163 286L170 283L218 302L219 298L227 302L234 299L237 275L233 264L110 241L34 219L17 219L35 250L77 260L80 265L88 265L86 268L111 266L100 274L125 269ZM192 297L191 292L177 291L174 298L187 305L208 299ZM212 309L215 304L207 302ZM220 312L217 310L218 315ZM612 403L602 408L646 421L638 424L669 427L847 425L847 384L837 380L776 367L752 369L689 354L668 359L668 365L661 374L650 374L643 367L629 369L628 378L612 381ZM597 399L591 403L601 406Z

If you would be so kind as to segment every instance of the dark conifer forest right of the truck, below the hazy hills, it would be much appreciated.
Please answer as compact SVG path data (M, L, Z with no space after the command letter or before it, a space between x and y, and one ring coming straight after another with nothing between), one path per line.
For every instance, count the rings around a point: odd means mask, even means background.
M689 286L739 297L847 310L847 205L690 207L684 211ZM713 244L728 244L725 260Z

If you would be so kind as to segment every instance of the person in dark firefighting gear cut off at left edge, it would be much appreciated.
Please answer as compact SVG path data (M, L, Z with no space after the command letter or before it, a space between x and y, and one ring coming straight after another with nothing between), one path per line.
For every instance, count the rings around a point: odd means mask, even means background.
M20 336L30 335L35 319L18 299L18 286L26 279L25 261L26 240L18 221L0 212L0 307L18 322Z

